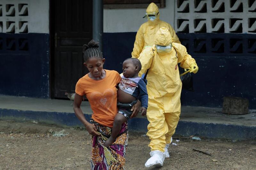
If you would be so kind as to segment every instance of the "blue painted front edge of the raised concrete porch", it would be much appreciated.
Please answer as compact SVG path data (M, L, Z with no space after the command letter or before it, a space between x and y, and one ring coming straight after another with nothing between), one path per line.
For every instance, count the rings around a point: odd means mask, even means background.
M84 114L87 121L91 115ZM31 121L58 124L67 126L83 126L74 113L23 111L14 109L0 109L0 120ZM146 118L132 118L128 121L129 130L147 132L148 120ZM256 140L256 127L225 125L213 123L197 123L180 121L175 135L197 135L208 138L225 138L230 140Z

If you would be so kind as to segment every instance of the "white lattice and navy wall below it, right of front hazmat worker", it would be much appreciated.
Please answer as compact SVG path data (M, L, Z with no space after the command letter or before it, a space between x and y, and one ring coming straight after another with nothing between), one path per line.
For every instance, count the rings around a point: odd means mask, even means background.
M256 1L176 0L175 9L175 29L200 68L183 104L221 107L236 96L255 108Z

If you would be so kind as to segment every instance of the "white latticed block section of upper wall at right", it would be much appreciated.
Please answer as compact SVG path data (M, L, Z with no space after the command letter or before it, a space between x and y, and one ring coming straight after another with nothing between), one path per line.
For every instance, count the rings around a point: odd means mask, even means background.
M177 32L188 27L189 33L256 33L255 1L175 1Z

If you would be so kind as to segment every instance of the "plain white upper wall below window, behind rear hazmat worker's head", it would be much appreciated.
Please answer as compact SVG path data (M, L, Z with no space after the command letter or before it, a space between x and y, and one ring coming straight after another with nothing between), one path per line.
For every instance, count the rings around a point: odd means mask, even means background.
M159 8L160 19L174 28L174 0L166 0L165 8ZM104 9L103 32L137 32L140 25L147 22L145 9Z

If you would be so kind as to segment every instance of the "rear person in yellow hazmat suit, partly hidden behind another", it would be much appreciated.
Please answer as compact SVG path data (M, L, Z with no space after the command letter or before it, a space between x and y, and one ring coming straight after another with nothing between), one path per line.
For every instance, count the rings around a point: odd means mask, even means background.
M159 30L159 28L161 27L165 27L169 30L172 38L174 39L174 42L180 43L180 40L177 37L172 26L170 26L170 24L168 24L167 22L159 19L160 14L156 4L149 4L146 12L147 13L145 17L147 17L148 22L142 24L136 34L134 48L132 51L132 58L138 58L143 48L145 48L146 46L154 45L155 34L157 30Z

